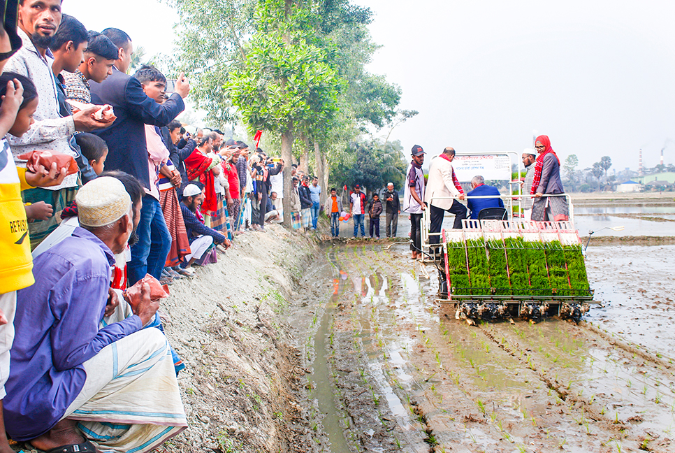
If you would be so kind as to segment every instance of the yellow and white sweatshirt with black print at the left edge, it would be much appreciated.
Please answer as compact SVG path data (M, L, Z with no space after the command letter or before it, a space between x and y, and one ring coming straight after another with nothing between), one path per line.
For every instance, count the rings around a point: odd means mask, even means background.
M33 285L33 259L21 191L26 169L17 170L6 140L0 139L0 294Z

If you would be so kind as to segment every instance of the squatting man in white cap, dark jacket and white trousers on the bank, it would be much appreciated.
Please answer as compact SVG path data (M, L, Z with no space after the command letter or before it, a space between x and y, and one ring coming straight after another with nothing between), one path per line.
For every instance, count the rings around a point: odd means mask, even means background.
M191 253L184 258L185 262L180 265L180 272L184 275L192 275L194 273L192 264L198 259L202 259L214 243L224 243L226 247L230 246L228 238L215 229L207 227L197 218L195 213L203 202L204 193L200 187L195 184L185 186L183 189L183 199L180 202L180 211L185 222L187 238L190 241Z

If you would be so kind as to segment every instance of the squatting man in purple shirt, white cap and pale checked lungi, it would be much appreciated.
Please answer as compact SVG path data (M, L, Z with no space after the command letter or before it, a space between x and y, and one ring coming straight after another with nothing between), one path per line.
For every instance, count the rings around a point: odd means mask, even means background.
M96 452L92 440L101 450L147 452L187 420L166 337L141 330L159 307L147 284L131 307L108 293L114 254L133 229L131 198L102 177L75 200L81 227L35 259L36 283L17 293L6 430L45 451Z

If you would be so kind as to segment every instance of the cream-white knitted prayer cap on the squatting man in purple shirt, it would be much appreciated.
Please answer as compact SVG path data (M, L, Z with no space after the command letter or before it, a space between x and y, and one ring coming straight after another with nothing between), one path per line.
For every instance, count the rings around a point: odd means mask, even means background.
M124 184L111 176L87 182L78 191L75 202L78 203L80 225L85 227L109 225L131 209L131 197Z

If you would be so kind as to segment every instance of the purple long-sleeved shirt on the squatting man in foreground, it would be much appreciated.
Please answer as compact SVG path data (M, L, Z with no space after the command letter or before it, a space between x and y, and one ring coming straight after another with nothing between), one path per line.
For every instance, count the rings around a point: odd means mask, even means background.
M141 329L133 315L99 330L114 263L106 244L79 227L35 259L35 284L17 292L3 401L5 427L14 440L49 431L85 384L82 364Z

